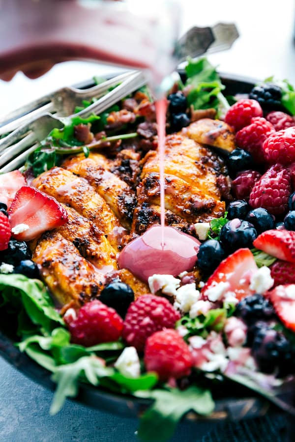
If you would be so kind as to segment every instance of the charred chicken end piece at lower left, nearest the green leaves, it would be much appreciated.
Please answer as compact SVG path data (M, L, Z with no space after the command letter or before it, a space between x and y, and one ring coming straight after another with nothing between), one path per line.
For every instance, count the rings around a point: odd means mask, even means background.
M97 297L104 277L60 233L47 232L33 253L42 279L60 305L77 307Z

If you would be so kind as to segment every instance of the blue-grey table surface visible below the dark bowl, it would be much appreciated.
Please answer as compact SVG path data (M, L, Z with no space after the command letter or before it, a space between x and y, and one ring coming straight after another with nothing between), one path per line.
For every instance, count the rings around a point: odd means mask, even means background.
M137 419L67 401L56 416L49 415L53 393L34 383L0 358L0 442L138 442ZM173 442L283 442L285 416L212 427L182 423ZM171 442L172 442L171 441Z

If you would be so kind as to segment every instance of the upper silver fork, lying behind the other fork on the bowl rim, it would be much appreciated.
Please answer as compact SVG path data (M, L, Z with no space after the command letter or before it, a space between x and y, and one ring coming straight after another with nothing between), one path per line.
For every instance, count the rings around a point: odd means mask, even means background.
M122 83L127 78L135 74L136 71L124 72L117 77L98 84L88 89L78 89L76 87L62 87L55 92L44 95L37 100L22 106L15 111L9 112L0 119L0 136L9 134L16 128L37 118L44 113L55 113L56 116L64 117L74 113L77 106L81 106L84 100L100 98L105 95L108 89Z

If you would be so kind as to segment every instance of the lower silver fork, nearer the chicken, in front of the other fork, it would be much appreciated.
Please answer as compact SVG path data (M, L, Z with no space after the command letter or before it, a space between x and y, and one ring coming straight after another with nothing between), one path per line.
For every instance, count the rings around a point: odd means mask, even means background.
M142 72L135 72L111 92L108 92L88 108L74 115L87 118L92 113L99 114L145 83L144 74ZM9 172L22 166L28 155L38 147L39 142L46 138L52 129L64 127L67 119L68 117L57 117L51 113L46 113L22 125L7 135L7 137L2 138L0 140L0 173Z

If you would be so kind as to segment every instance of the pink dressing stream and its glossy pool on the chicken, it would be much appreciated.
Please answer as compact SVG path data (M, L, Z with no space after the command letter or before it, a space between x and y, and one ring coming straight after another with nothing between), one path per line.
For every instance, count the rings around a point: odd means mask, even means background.
M121 251L118 265L135 276L148 281L156 274L177 276L193 270L200 242L174 227L165 226L165 126L167 100L156 102L158 152L160 169L161 225L150 227L142 236L131 241Z

